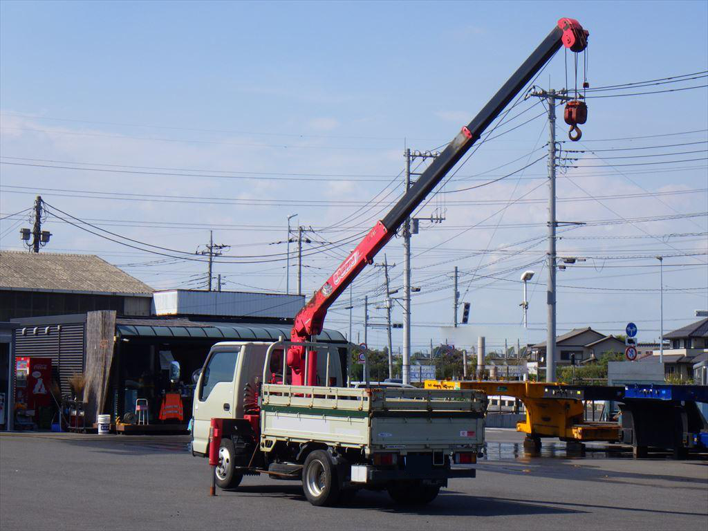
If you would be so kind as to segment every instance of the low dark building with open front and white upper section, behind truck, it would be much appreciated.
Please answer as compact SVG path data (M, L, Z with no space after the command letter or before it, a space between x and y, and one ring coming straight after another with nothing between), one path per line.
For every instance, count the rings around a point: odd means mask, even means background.
M161 292L154 303L159 315L154 316L102 310L14 319L16 356L50 358L62 395L75 394L72 377L82 375L85 387L77 398L86 403L91 423L98 413L110 413L114 421L130 418L137 400L144 399L148 430L181 429L190 417L193 374L211 346L218 341L287 339L302 304L301 295ZM348 343L341 333L325 330L317 341L340 344L341 355L346 356ZM173 362L180 366L179 382L170 381ZM162 401L174 392L181 396L184 414L177 423L162 423Z

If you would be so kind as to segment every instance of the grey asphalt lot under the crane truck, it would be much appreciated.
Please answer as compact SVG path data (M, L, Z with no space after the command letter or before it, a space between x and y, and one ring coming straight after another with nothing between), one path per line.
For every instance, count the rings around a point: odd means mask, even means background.
M0 435L0 528L10 530L708 530L708 460L631 459L590 445L569 458L544 440L525 455L513 430L488 428L476 479L428 506L361 491L311 506L299 482L247 476L208 496L206 459L186 437Z

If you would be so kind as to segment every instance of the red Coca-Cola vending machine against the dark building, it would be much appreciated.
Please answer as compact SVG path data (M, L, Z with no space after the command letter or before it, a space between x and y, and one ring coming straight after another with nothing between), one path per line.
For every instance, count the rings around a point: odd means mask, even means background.
M34 426L38 408L52 403L52 358L18 356L15 372L15 424Z

